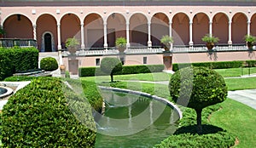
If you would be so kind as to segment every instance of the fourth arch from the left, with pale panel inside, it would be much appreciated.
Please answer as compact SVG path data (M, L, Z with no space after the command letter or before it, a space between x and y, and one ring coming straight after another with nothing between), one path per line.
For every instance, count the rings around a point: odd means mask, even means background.
M87 48L102 48L104 44L103 19L100 14L88 14L84 18L84 45Z

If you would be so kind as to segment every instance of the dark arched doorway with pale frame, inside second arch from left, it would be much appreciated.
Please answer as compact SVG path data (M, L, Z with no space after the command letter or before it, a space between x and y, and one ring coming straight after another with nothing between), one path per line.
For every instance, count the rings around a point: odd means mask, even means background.
M50 41L46 40L46 36L50 37ZM55 37L52 32L50 31L44 31L42 34L42 42L41 42L41 51L42 52L51 52L56 51L55 50ZM50 42L50 44L48 44ZM48 47L50 46L50 47Z

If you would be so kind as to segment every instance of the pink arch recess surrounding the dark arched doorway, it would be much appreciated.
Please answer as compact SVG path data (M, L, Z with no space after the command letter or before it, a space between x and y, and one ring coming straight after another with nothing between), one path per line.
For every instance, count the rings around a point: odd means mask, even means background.
M51 14L41 14L37 19L37 40L39 51L44 51L44 33L50 32L52 37L52 51L56 51L57 45L57 20Z

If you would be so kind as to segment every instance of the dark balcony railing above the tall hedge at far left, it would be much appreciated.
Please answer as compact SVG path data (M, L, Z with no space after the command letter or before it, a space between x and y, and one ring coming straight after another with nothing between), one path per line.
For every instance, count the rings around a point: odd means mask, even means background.
M12 48L12 47L37 47L37 41L34 39L18 39L18 38L1 38L0 47Z

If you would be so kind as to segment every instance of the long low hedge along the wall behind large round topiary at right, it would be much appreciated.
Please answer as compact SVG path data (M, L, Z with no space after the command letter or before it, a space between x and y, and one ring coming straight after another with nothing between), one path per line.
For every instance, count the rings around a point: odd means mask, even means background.
M256 63L256 60L254 60ZM181 64L173 64L172 71L177 71L183 67L187 67L190 65L193 66L204 66L209 69L224 69L224 68L239 68L241 66L245 66L245 61L235 60L235 61L220 61L220 62L203 62L203 63L181 63Z

